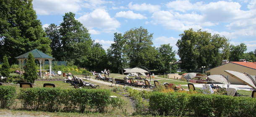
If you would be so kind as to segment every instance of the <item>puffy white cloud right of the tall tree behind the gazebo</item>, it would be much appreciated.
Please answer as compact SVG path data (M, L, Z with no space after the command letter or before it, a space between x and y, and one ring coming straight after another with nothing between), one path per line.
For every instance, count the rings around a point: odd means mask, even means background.
M116 28L120 27L120 23L115 18L111 18L106 10L96 9L89 14L85 14L78 18L89 30L98 28L105 33L113 33Z

